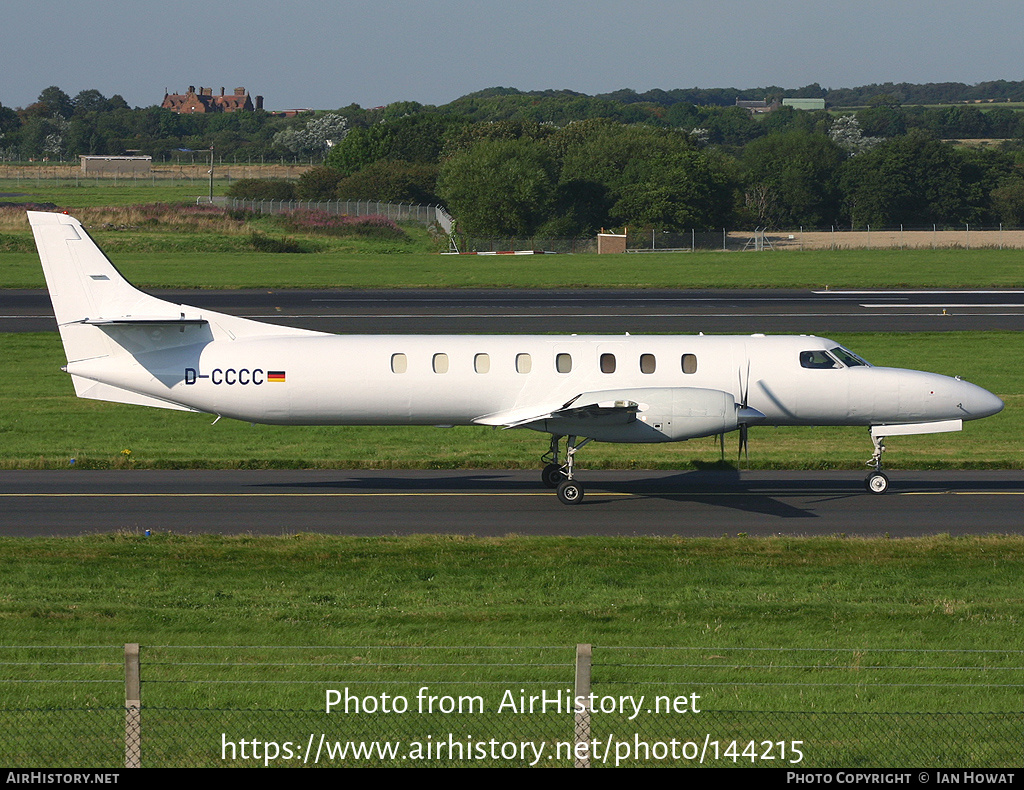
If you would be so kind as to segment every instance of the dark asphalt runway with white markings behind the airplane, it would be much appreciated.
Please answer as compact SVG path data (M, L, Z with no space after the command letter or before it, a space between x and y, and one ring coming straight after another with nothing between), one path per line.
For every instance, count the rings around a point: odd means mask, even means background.
M155 296L346 334L940 332L1024 328L1024 289L240 290ZM0 332L55 331L44 290L0 291Z

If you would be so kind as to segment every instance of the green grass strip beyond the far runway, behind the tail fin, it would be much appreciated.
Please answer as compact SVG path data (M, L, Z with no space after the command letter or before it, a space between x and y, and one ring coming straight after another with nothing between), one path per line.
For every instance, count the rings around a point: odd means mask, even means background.
M646 255L393 254L395 245L341 243L314 254L258 253L245 237L189 240L95 233L134 284L147 288L1019 288L1016 250L837 250ZM0 240L2 242L2 240ZM26 239L28 243L28 239ZM151 245L145 249L145 245ZM142 249L138 249L142 247ZM130 248L130 249L129 249ZM196 249L198 248L198 249ZM0 252L0 287L42 288L35 252Z

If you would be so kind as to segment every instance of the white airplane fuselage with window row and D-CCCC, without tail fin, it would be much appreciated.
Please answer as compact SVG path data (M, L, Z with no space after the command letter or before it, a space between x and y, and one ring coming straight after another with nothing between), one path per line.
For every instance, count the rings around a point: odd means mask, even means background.
M131 335L147 331L108 334L131 347ZM633 400L645 407L637 418L663 426L639 440L648 442L735 427L716 424L694 433L677 425L669 413L675 407L665 402L675 389L745 400L764 415L758 420L764 425L972 419L998 403L974 384L934 373L838 361L807 367L802 355L824 352L824 359L838 347L811 336L311 335L189 342L186 332L178 334L182 345L138 349L132 366L106 357L70 364L69 372L198 411L283 424L492 424L489 415L505 415L500 424L507 424L519 410L523 419L536 417L583 392L636 390ZM583 428L580 435L589 435ZM638 441L628 436L595 438Z

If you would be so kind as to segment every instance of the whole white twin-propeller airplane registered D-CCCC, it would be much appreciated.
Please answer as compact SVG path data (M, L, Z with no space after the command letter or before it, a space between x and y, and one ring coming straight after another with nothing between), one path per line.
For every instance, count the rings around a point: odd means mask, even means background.
M493 425L551 434L542 479L581 501L591 441L683 442L748 426L862 425L882 494L885 436L959 430L1002 402L935 373L877 368L813 336L332 335L135 289L67 214L29 212L80 398L296 425ZM565 449L560 440L565 439Z

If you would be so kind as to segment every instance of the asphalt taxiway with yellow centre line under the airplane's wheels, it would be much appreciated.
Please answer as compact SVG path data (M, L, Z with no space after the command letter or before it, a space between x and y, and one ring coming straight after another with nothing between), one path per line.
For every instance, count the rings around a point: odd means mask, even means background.
M1019 533L1024 471L590 471L563 505L540 472L0 472L0 532L910 537Z

